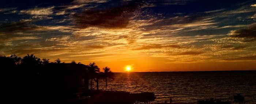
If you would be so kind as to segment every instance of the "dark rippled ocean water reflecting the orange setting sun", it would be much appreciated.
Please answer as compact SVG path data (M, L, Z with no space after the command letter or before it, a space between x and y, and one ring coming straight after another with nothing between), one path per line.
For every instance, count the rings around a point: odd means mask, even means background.
M247 104L256 104L256 71L115 73L115 79L108 80L108 90L111 88L153 92L157 97L153 103L169 102L170 97L173 103L188 104L209 98L232 100L241 93ZM105 90L105 81L100 80L99 89Z

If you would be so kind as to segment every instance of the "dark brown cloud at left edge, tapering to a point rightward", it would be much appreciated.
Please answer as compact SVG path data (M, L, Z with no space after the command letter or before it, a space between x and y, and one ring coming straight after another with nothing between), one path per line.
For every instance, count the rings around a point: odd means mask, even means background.
M39 26L31 24L31 19L22 19L11 23L0 24L0 43L13 40L39 39L38 34L46 34L42 31L71 31L69 26ZM41 31L41 32L40 32Z

